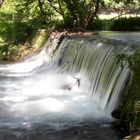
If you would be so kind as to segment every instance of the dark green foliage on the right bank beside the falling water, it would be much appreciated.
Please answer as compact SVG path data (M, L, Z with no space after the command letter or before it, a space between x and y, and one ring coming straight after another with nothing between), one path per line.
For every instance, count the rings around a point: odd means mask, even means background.
M131 133L140 127L140 49L131 55L120 54L118 57L121 62L128 63L132 79L123 104L116 112L122 125Z

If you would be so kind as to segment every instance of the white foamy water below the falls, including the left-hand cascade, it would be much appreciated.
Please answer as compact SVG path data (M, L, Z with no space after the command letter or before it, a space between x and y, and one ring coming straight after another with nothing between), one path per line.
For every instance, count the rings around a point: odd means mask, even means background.
M1 126L29 127L31 123L80 122L105 117L89 96L89 82L82 74L58 73L59 69L48 70L50 65L36 72L44 64L40 52L24 62L1 65Z

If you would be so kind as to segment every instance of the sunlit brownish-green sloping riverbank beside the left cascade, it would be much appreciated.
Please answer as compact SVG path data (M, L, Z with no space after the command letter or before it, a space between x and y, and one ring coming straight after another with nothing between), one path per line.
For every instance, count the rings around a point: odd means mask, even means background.
M1 63L11 63L24 60L32 56L36 51L41 49L51 34L51 29L40 29L32 40L15 45L14 53L6 53L1 56ZM4 46L3 46L4 47ZM12 47L12 46L9 46Z

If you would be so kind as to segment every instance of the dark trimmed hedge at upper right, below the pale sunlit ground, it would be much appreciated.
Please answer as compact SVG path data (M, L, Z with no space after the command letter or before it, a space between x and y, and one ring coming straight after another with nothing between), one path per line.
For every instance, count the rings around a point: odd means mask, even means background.
M119 18L110 27L114 31L140 31L140 17Z

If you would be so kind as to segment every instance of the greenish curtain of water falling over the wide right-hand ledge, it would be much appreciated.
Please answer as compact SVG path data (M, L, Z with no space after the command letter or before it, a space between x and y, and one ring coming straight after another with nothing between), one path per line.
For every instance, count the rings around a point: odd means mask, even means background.
M91 100L100 110L111 114L129 77L128 65L124 63L121 67L116 56L127 53L130 47L113 40L67 37L60 48L58 64L61 71L84 75L90 83L88 92ZM80 79L80 76L77 78Z

